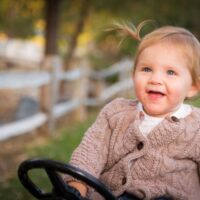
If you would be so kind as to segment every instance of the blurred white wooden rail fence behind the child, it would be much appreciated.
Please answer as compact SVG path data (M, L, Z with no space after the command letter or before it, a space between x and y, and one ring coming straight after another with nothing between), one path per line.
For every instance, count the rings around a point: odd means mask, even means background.
M22 88L42 88L50 86L50 109L48 112L38 112L37 114L8 123L0 126L0 140L5 140L12 136L28 133L45 123L54 126L55 120L62 117L80 106L97 106L108 101L117 93L130 89L132 87L131 71L133 63L129 59L124 59L106 70L91 71L87 70L84 64L77 69L61 72L60 60L58 57L53 59L51 72L38 71L38 72L0 72L0 90L1 89L22 89ZM87 65L87 64L85 64ZM88 98L84 95L72 95L72 98L66 102L57 103L58 87L60 81L69 81L77 87L82 87L83 84L88 84L86 80L93 79L99 82L104 81L107 77L119 75L119 81L104 88L96 97ZM81 80L81 81L80 81ZM90 84L90 83L89 83ZM84 88L81 88L84 90ZM80 89L80 90L81 90ZM84 91L83 91L84 92ZM1 106L1 105L0 105Z

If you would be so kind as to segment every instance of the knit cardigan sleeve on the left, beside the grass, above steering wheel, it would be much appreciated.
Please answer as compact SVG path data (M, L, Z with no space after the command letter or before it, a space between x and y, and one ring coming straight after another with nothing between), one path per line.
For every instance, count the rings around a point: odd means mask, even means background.
M112 101L101 110L94 124L87 130L81 143L72 153L69 162L96 178L99 178L107 162L111 136L109 113L115 107L113 104L116 103Z

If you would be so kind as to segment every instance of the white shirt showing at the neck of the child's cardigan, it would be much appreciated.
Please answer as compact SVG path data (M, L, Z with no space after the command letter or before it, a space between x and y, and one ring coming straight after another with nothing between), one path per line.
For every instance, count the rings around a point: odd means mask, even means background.
M144 113L144 120L139 125L140 131L147 136L149 132L156 127L164 118L163 117L152 117L145 113L142 104L139 102L137 105L137 108L139 111L142 111ZM192 108L190 105L187 104L181 104L179 109L171 114L171 116L175 116L176 118L184 118L187 115L189 115L192 111Z

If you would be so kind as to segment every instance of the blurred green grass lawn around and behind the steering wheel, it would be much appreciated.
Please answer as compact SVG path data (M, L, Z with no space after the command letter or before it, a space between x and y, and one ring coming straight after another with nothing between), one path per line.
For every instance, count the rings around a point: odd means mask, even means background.
M200 107L200 98L196 98L188 103ZM83 133L92 124L97 113L89 115L88 119L82 123L66 124L59 130L58 137L51 139L42 147L34 147L27 150L28 157L45 157L58 161L67 162L77 144L81 141ZM50 185L46 175L41 171L32 173L34 181L44 189L49 189ZM0 183L0 199L2 200L34 200L20 184L17 176L11 180Z

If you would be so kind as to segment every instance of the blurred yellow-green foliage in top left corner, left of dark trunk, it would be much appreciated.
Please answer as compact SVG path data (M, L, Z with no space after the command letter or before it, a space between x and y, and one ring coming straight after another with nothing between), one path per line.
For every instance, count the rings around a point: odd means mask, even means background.
M43 1L1 0L0 4L0 31L8 37L23 38L35 33L35 23L42 17Z

